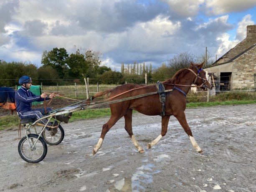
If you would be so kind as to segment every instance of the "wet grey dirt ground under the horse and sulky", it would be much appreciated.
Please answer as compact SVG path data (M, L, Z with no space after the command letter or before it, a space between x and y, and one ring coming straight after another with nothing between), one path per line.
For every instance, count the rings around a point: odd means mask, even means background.
M192 147L175 117L157 145L161 117L133 115L139 154L124 130L124 119L106 134L92 155L109 118L63 124L65 137L37 164L18 154L18 130L0 131L0 191L44 192L256 192L255 104L186 109ZM25 136L25 130L22 130Z

